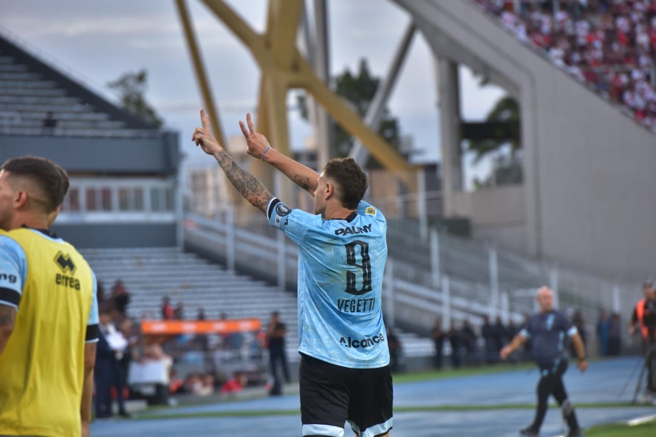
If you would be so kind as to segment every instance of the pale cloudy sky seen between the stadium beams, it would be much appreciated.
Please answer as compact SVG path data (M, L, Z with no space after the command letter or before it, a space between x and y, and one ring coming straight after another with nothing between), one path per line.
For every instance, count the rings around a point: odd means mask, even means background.
M266 0L228 0L256 31L264 31ZM311 3L311 2L310 2ZM230 31L199 0L188 0L205 58L215 102L226 135L237 135L237 122L255 110L258 68ZM367 58L383 75L409 16L388 0L330 0L331 71L355 70ZM211 165L187 141L198 124L201 96L173 0L2 0L0 31L28 50L81 79L105 96L106 84L122 73L148 70L148 100L167 127L180 132L186 165ZM432 60L423 37L415 35L411 52L389 102L401 131L412 135L420 160L438 159L438 111ZM462 113L480 119L502 94L478 87L461 69ZM290 93L291 94L291 93ZM293 95L290 95L293 101ZM293 148L302 147L310 127L290 112Z

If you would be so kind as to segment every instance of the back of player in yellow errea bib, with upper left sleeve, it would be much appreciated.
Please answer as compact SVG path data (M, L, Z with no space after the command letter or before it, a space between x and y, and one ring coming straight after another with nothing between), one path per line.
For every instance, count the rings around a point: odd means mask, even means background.
M0 272L0 290L20 299L0 355L0 435L78 436L93 272L70 243L39 230L0 232L0 248L0 267L19 272Z

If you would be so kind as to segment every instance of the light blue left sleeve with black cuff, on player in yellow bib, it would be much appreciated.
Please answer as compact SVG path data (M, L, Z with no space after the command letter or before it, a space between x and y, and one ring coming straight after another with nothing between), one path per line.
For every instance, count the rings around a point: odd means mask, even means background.
M28 276L25 251L14 239L0 236L0 304L18 310Z

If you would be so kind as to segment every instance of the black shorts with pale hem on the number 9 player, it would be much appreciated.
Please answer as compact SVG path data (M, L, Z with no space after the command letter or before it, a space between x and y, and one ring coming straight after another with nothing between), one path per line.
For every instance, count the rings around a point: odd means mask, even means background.
M302 354L298 375L304 436L342 437L346 421L360 437L392 429L389 365L351 369Z

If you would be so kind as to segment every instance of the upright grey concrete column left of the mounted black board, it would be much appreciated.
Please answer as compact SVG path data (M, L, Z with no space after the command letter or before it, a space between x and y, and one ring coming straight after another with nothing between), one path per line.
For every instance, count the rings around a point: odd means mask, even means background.
M460 83L458 65L434 57L440 109L442 192L445 217L458 215L453 197L462 190Z

